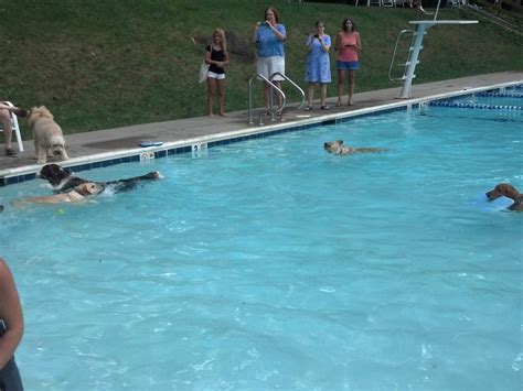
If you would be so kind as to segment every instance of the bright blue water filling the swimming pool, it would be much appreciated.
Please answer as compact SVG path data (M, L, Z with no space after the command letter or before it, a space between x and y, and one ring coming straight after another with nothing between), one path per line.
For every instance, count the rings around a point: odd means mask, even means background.
M28 390L519 390L523 115L429 107L79 173L7 207ZM324 141L382 146L331 155ZM49 194L43 181L0 189Z

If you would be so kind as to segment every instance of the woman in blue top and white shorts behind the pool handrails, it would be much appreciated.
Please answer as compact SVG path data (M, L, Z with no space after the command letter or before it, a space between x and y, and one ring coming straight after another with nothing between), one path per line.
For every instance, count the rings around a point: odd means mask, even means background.
M265 22L256 23L254 26L253 42L258 48L256 72L269 78L276 72L285 75L285 50L284 42L287 37L285 26L279 24L278 11L273 7L265 10ZM271 82L281 89L281 76L275 76ZM264 85L265 108L270 105L270 86ZM281 106L281 96L278 94L278 106Z

